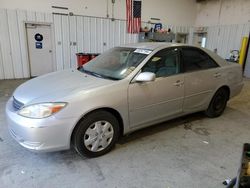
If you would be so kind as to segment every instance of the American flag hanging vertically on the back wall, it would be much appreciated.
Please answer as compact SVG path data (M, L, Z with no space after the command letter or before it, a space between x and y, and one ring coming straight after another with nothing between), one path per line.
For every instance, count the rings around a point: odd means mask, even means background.
M126 0L127 31L139 33L141 28L141 0Z

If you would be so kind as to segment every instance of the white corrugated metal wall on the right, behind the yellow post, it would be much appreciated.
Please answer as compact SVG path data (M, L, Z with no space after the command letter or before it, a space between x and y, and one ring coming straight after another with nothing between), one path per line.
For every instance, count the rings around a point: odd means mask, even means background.
M231 50L240 50L242 37L249 36L250 24L208 27L206 48L218 55L229 58Z

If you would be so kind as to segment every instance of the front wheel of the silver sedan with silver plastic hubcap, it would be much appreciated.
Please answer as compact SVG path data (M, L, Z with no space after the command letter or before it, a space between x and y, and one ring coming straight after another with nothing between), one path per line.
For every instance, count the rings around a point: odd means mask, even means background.
M100 132L98 132L97 125L98 127L99 126L102 127L102 131L101 131L102 135ZM103 136L105 135L104 126L106 125L110 126L106 132L109 131L110 134L112 134L113 132L113 136L112 136L112 139L107 138L107 140L104 141L106 138L105 136ZM92 134L92 130L93 130L93 134ZM88 132L91 132L91 134L88 135ZM95 139L94 137L96 137L96 140L94 140ZM78 123L72 135L72 145L82 157L88 157L88 158L98 157L98 156L108 153L115 146L115 143L118 140L118 137L119 137L118 120L111 113L100 110L100 111L95 111L93 113L88 114ZM90 139L91 141L88 141L88 139ZM107 142L108 145L105 147L102 146L101 142L103 141ZM91 142L91 144L87 144L87 142ZM100 151L94 151L95 149L94 144L97 142L99 145L97 150L100 150Z

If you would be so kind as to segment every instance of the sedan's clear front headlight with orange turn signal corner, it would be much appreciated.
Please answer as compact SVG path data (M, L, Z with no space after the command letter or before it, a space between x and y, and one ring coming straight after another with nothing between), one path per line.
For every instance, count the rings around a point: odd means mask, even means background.
M18 114L28 118L46 118L59 112L66 103L39 103L23 107Z

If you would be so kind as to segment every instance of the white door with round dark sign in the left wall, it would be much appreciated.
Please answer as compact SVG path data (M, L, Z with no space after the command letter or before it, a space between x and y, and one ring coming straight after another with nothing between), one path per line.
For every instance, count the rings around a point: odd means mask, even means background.
M51 26L26 24L30 75L40 76L53 71Z

